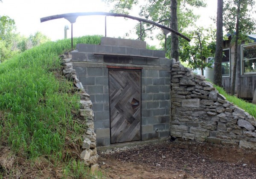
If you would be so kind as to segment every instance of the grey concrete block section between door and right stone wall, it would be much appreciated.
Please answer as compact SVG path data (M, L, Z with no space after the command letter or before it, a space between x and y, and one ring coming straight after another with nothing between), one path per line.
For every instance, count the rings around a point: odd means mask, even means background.
M142 70L142 140L168 137L170 70Z

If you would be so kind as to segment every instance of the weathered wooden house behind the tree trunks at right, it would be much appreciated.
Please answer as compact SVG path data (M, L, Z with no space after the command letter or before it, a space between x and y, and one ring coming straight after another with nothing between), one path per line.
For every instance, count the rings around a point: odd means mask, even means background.
M223 41L224 57L222 58L222 85L231 93L235 46L231 35ZM256 35L248 35L252 43L242 43L238 48L236 68L236 90L239 98L252 99L256 88Z

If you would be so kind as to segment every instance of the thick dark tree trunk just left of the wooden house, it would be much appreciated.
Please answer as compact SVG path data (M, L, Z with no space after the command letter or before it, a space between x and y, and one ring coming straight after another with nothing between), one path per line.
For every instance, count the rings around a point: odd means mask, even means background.
M213 83L222 87L222 72L221 72L221 61L222 61L222 42L223 42L223 0L218 0L217 7L217 32L216 32L216 50L215 50L215 61L214 61L214 80Z

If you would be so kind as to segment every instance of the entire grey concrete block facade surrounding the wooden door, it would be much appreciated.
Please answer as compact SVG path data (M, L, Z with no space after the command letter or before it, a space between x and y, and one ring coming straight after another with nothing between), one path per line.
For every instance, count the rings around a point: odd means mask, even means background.
M114 46L106 45L108 40L111 40ZM109 66L141 69L141 140L168 137L171 60L164 58L163 51L144 49L144 43L138 40L112 40L103 40L104 45L78 44L77 50L70 53L77 77L93 103L96 145L108 146L111 141ZM137 48L132 47L133 43L137 43Z

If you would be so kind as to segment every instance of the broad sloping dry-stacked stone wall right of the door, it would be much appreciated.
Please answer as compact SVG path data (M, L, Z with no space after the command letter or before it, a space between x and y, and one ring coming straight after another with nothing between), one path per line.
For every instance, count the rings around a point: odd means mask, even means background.
M172 63L171 136L256 149L253 116L219 94L204 76Z

